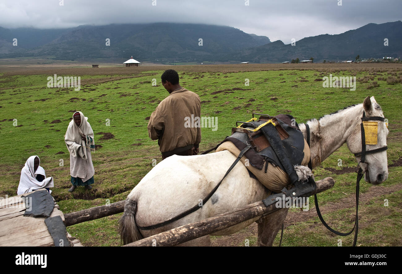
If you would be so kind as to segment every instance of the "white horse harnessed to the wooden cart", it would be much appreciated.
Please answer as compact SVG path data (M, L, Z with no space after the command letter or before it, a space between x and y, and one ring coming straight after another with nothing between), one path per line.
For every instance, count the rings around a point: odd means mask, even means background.
M361 117L384 117L374 97L365 98L357 104L325 115L320 120L310 120L310 150L313 168L347 143L352 153L361 151ZM306 138L306 125L299 124ZM386 145L388 129L385 122L378 122L377 145L367 145L367 150ZM125 244L157 233L194 223L203 219L241 208L263 200L269 190L258 180L249 176L246 167L239 162L226 176L213 196L197 211L163 227L152 230L138 228L156 225L176 217L197 205L223 178L237 155L219 151L205 155L173 155L156 165L127 196L124 214L120 219L120 232ZM357 162L360 156L356 157ZM361 164L365 180L380 184L388 178L387 153L381 151L366 155ZM367 176L369 174L369 176ZM243 229L256 221L258 223L258 245L272 245L288 209L280 209L265 217L257 217L226 228L212 235L228 235ZM209 235L188 241L181 245L210 245Z

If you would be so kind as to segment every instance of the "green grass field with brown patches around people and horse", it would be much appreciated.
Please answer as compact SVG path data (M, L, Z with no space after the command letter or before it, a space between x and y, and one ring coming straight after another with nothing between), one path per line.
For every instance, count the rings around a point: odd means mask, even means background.
M211 67L211 72L208 72L208 67ZM297 69L289 67L291 70L238 72L232 72L230 65L219 67L221 71L212 65L203 65L203 72L199 72L198 68L173 67L179 73L180 84L200 96L201 116L217 117L217 131L201 129L200 151L222 141L230 135L236 121L250 119L252 112L270 115L288 113L297 122L303 123L351 104L362 103L366 96L375 96L389 120L388 164L402 157L402 85L386 81L389 77L400 79L402 67L387 68L384 64L375 69L367 66L365 70L351 70L349 64L338 65L335 69L310 69L313 67L300 65ZM152 159L161 160L157 142L148 137L146 117L168 95L160 84L160 75L170 67L163 67L163 70L160 67L147 68L148 71L142 67L132 74L121 74L119 70L113 73L113 68L105 75L92 74L91 68L77 69L76 73L70 69L70 74L57 72L57 76L80 76L82 86L79 91L74 88L47 88L47 77L53 76L51 69L46 73L30 72L29 75L1 72L0 138L3 145L0 152L0 196L16 195L21 168L29 156L38 155L47 176L54 177L52 195L64 213L124 200L151 170ZM248 65L249 68L252 65ZM323 88L321 81L314 81L330 73L333 76L356 76L356 90ZM157 86L152 86L154 78ZM248 86L245 85L246 79ZM372 87L374 81L379 86ZM95 168L93 189L80 187L70 193L70 157L64 134L76 110L88 117L95 133L95 145L101 147L92 153ZM108 121L110 125L107 125ZM105 133L114 137L101 139ZM332 176L336 182L334 188L319 195L322 207L354 195L355 173L336 175L325 169L340 169L337 166L339 158L343 160L343 168L356 165L353 154L344 145L315 171L316 178ZM362 194L371 193L378 187L389 188L390 191L368 198L361 204L360 244L402 245L399 233L402 228L401 172L402 168L398 165L390 167L388 180L381 186L371 186L362 181ZM388 207L382 205L384 199L389 200ZM330 223L336 228L348 230L353 227L353 202L352 199L350 208L336 209L324 217L332 220ZM310 210L312 208L310 205ZM67 230L84 245L121 245L117 233L120 216L88 221ZM239 233L244 234L244 231ZM283 244L331 246L337 244L339 237L335 236L326 231L315 217L287 226ZM256 242L256 234L247 237L250 244ZM220 238L213 237L213 242ZM279 243L277 240L276 244ZM351 241L353 236L348 236L344 243L351 245ZM244 239L239 238L233 245L242 243Z

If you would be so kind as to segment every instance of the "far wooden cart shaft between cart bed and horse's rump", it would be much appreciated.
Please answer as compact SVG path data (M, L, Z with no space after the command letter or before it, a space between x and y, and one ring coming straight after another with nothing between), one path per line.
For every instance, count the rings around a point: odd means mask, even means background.
M68 227L77 223L82 223L121 213L124 211L124 204L125 200L99 207L92 207L90 209L84 209L82 211L67 213L64 214L64 218L66 219L66 221L64 221L64 224L66 225L66 227Z

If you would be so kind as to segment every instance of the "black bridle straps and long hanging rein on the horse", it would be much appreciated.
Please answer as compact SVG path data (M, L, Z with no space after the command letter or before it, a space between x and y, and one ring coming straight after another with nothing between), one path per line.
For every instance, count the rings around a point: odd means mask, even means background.
M378 117L378 116L372 116L372 117L366 117L365 111L363 110L363 117L361 117L361 121L369 121L369 120L377 120L377 121L383 121L384 122L384 118L383 117ZM384 151L387 150L388 147L384 146L384 147L379 147L377 149L371 149L371 150L366 150L366 142L365 142L365 131L364 131L364 127L363 127L363 123L360 124L360 128L361 128L361 152L358 153L354 153L355 157L361 155L360 157L360 161L359 164L357 164L356 170L355 172L357 172L357 179L356 179L356 217L355 217L355 225L353 226L353 229L348 232L348 233L341 233L339 231L336 231L334 229L332 229L322 218L321 212L320 212L320 208L318 207L318 199L317 199L317 194L314 194L314 202L316 204L316 211L317 211L317 215L318 218L320 218L320 221L322 222L322 224L332 233L335 233L336 235L340 235L340 236L347 236L350 235L353 230L355 230L355 237L353 239L353 246L356 246L356 241L357 241L357 233L359 230L359 189L360 189L360 180L361 178L363 178L364 172L360 167L361 163L365 163L365 159L366 159L366 154L371 154L371 153L377 153L380 151ZM306 135L307 135L307 144L310 147L310 127L309 125L306 123ZM321 152L322 153L322 152ZM310 157L310 162L308 163L308 167L312 170L312 164L311 164L311 157Z

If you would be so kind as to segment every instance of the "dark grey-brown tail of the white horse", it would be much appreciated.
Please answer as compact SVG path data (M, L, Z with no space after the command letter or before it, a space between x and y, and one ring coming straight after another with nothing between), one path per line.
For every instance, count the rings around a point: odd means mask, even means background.
M129 198L124 205L124 213L119 220L121 240L126 245L133 241L143 239L135 223L135 213L137 212L137 202Z

